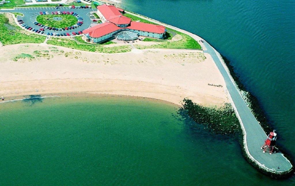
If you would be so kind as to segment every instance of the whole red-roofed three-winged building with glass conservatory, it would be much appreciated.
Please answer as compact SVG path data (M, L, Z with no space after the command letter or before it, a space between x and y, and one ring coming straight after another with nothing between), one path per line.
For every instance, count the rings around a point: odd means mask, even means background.
M118 40L133 40L138 36L161 39L165 36L166 28L161 25L133 22L123 16L124 10L112 5L97 6L97 14L102 19L102 24L83 30L86 41L99 43L110 37Z

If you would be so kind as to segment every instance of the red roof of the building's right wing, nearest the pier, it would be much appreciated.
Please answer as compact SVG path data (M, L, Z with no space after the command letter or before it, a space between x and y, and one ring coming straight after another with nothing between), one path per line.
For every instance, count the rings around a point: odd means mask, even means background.
M142 22L132 21L130 23L130 26L128 26L127 28L133 29L133 30L145 31L145 32L153 32L153 33L158 33L158 34L165 33L164 26L149 24L149 23L142 23Z

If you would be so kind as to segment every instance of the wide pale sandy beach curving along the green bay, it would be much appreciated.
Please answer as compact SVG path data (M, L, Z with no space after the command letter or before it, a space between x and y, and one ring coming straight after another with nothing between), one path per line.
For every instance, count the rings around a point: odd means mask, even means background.
M0 59L0 95L6 100L35 94L89 93L148 97L178 105L185 97L207 106L228 102L222 75L212 57L202 51L102 54L19 44L0 47L0 52L4 56Z

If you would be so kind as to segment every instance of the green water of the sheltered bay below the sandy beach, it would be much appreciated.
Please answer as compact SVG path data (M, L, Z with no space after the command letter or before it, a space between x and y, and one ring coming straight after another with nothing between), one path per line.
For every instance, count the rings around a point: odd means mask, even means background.
M120 97L2 103L0 185L278 183L244 160L237 141L177 110Z

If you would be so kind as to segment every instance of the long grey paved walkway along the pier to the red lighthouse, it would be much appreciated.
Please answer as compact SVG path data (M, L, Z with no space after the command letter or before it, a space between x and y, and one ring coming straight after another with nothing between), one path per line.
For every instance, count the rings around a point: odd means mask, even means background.
M177 27L173 27L171 25L158 22L154 19L146 18L128 11L127 13L135 15L142 19L149 20L151 22L158 23L165 27L175 29L179 32L188 34L192 38L194 38L196 41L199 41L200 39L202 39L201 37L195 34L179 29ZM202 40L204 41L204 39ZM258 163L260 163L266 169L271 169L276 172L285 172L291 169L292 168L291 163L283 156L283 154L274 153L270 155L268 153L262 153L262 150L260 149L260 147L264 144L264 141L267 137L265 132L261 128L256 118L253 116L253 113L250 111L247 104L245 103L242 96L240 95L239 91L237 90L234 83L232 82L232 79L229 73L227 72L227 70L225 69L225 67L223 66L223 62L221 58L218 56L219 54L217 54L217 51L214 50L213 47L211 47L206 41L204 41L204 43L201 42L200 44L202 48L204 49L204 52L209 53L212 56L215 64L217 65L220 73L222 74L225 80L227 90L229 91L232 101L234 103L233 106L236 108L237 116L240 118L240 121L242 121L242 125L245 128L246 148L249 151L248 155L250 155L250 157L252 156L253 159L258 161Z

